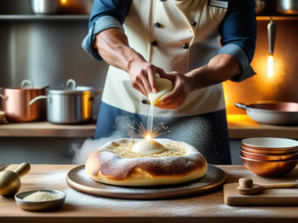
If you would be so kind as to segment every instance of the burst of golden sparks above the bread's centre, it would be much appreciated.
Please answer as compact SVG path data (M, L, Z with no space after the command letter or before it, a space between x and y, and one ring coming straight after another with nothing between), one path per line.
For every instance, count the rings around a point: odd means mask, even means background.
M130 128L132 128L135 131L128 132L128 136L130 137L136 137L136 138L146 138L146 139L153 139L157 136L161 136L163 134L166 134L167 132L170 132L168 130L169 127L164 126L164 123L159 123L157 126L153 126L152 132L150 134L147 130L145 130L143 124L140 125L134 120L134 123L137 125L136 128L134 128L131 125L128 125Z

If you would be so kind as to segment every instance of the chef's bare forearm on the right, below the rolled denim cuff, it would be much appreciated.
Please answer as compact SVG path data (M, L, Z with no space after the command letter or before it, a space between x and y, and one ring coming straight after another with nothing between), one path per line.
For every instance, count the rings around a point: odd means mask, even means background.
M236 59L228 54L218 54L203 67L186 74L190 78L191 91L222 83L241 73Z

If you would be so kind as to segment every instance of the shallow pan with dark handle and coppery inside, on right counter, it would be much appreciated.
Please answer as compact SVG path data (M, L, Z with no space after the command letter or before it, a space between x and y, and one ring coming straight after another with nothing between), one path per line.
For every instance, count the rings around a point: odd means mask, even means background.
M297 125L298 103L260 101L245 105L235 103L235 106L246 110L246 114L254 121L267 125Z

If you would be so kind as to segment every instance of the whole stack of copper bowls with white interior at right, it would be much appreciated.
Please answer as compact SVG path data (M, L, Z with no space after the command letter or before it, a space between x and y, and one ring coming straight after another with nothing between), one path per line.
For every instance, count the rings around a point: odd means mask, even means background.
M283 138L250 138L241 141L244 166L261 177L282 177L298 164L298 142Z

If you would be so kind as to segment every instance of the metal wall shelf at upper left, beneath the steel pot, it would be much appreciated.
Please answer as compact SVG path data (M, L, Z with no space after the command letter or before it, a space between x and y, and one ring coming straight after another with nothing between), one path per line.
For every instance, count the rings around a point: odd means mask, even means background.
M88 20L89 15L0 15L0 20Z

